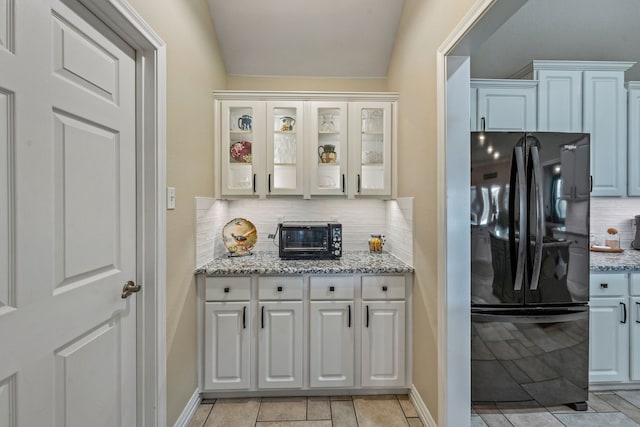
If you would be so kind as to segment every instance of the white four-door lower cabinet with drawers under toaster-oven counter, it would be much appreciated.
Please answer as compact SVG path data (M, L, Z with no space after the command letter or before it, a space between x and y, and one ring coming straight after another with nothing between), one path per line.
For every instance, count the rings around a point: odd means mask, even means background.
M408 274L199 276L202 391L407 389L411 284Z

